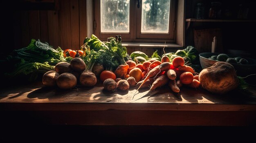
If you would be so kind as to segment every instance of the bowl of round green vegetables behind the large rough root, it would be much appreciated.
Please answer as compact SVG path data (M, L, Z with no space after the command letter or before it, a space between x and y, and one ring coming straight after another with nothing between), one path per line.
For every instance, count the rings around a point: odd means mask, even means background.
M202 66L202 68L208 68L210 66L212 66L214 63L218 62L218 61L214 61L211 59L208 59L209 57L211 57L212 55L219 55L221 53L200 53L199 54L199 60L200 60L200 64ZM236 70L236 74L238 76L247 76L247 75L251 75L251 74L256 74L256 59L251 59L248 57L243 57L240 55L233 55L233 54L227 54L229 57L242 57L247 59L247 61L249 62L249 64L233 64L230 63L231 65L234 66L235 70Z

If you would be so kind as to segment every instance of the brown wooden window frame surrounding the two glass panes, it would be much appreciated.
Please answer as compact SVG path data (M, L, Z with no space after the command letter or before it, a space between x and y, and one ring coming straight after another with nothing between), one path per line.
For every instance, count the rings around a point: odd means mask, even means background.
M140 5L142 0L140 0ZM141 7L137 8L137 0L130 0L130 31L129 33L101 33L100 32L100 0L94 0L94 26L93 33L100 40L107 40L108 37L113 37L115 35L121 35L123 42L176 42L176 28L175 21L177 11L176 0L171 0L170 6L170 19L169 19L169 32L168 33L141 33ZM136 18L134 18L135 15ZM137 25L137 26L136 26Z

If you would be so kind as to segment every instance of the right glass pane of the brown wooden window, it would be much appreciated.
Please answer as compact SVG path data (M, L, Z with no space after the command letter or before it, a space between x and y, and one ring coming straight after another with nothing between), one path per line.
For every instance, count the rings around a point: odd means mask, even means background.
M142 0L141 33L168 33L171 0Z

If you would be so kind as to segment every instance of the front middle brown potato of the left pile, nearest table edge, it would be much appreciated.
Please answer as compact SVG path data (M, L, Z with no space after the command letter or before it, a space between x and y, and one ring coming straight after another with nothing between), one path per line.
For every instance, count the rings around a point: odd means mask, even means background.
M57 86L61 89L71 89L76 86L77 79L72 73L62 73L57 78Z

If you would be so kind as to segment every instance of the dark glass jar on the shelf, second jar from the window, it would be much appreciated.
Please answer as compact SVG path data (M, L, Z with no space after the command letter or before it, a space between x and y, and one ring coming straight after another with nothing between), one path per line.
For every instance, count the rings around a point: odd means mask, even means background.
M211 2L211 7L209 9L209 18L221 18L221 2Z

